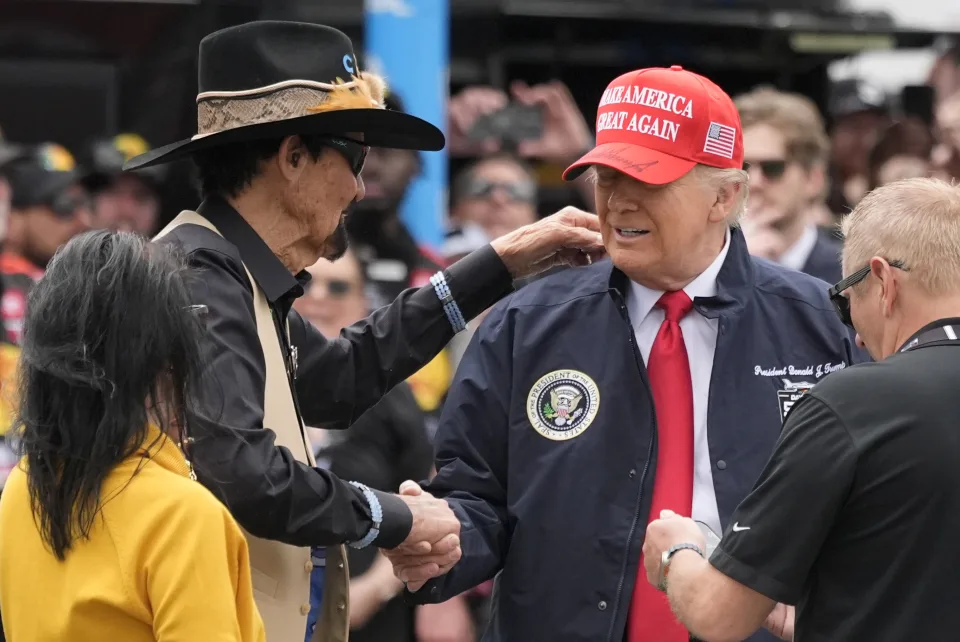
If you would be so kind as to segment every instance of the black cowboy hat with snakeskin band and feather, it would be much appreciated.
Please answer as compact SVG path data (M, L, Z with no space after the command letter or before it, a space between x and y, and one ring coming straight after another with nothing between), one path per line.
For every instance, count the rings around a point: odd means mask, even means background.
M363 134L371 147L437 151L443 132L384 109L381 78L361 72L346 34L323 25L267 20L200 41L197 135L130 159L124 170L196 151L295 134Z

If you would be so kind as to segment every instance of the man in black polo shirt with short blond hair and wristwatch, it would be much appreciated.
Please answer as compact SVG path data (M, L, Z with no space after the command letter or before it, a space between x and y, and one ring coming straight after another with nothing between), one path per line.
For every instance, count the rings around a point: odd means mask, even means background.
M960 635L960 187L891 183L843 227L831 296L877 361L794 406L709 561L690 519L647 529L649 580L704 640Z

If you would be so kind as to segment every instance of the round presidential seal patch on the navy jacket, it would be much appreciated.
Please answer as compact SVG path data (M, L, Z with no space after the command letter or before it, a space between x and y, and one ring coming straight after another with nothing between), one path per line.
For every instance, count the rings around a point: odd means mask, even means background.
M540 377L527 395L527 418L534 430L554 441L573 439L590 427L600 410L600 390L578 370L554 370Z

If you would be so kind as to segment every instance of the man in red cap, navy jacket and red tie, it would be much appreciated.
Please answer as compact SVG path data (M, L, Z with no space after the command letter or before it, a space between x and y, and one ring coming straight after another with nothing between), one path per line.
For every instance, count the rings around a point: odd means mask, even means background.
M686 641L646 581L646 525L723 532L793 404L863 356L822 282L747 251L740 119L708 79L615 79L566 178L585 171L610 260L493 308L444 407L426 489L463 557L437 576L387 555L420 603L496 576L487 641Z

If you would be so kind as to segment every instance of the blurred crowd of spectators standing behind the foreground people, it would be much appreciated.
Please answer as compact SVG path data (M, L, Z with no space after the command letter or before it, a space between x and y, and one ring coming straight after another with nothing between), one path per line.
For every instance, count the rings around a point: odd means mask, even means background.
M742 221L750 251L837 281L837 223L867 191L907 177L960 179L957 54L945 54L931 70L933 100L927 114L859 80L833 87L827 113L804 96L772 87L737 97L750 176ZM472 135L478 119L511 102L541 109L539 138L506 145ZM388 108L403 110L400 97L391 95ZM590 123L559 82L516 82L506 90L469 87L451 97L448 112L448 149L469 161L450 179L446 241L435 248L418 244L400 215L404 196L420 173L418 153L371 149L363 172L366 198L347 220L353 249L336 263L321 260L314 266L312 285L297 302L304 318L323 332L338 333L403 289L428 282L446 263L536 220L544 213L538 202L538 168L566 166L593 144ZM165 211L160 198L164 170L121 172L126 159L148 147L135 133L76 150L56 142L18 144L17 132L0 134L4 428L16 403L10 382L28 293L57 248L91 228L150 236L175 214ZM570 198L593 208L593 189L586 179L574 183ZM446 390L470 332L481 320L348 433L311 429L318 465L391 491L403 479L429 476L430 440ZM9 444L0 447L0 479L15 461ZM401 585L380 553L357 551L355 557L350 560L352 639L477 639L489 585L444 604L414 608L398 598Z

